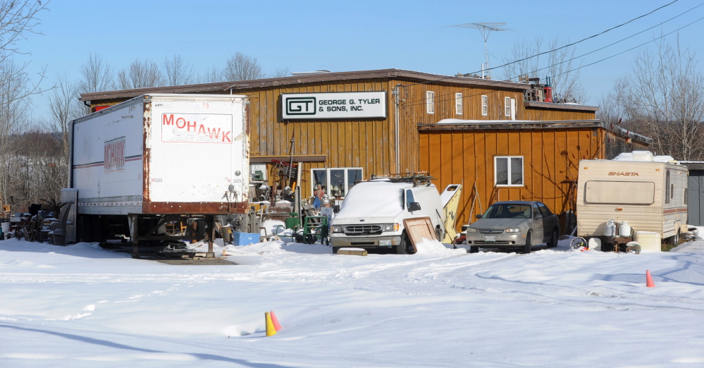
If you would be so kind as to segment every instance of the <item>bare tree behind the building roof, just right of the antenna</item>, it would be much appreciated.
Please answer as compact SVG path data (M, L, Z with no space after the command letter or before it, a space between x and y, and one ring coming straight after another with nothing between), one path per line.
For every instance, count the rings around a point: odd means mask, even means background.
M565 47L569 39L562 40L558 37L550 39L547 47L543 47L543 37L536 37L533 41L519 39L514 42L511 54L503 59L508 63L503 67L505 79L517 80L519 75L530 77L548 76L552 80L552 90L555 99L566 101L583 101L585 94L579 82L579 70L574 58L574 47ZM550 51L543 56L538 55ZM533 56L533 57L531 57ZM513 61L520 60L516 63ZM543 80L544 82L545 80Z

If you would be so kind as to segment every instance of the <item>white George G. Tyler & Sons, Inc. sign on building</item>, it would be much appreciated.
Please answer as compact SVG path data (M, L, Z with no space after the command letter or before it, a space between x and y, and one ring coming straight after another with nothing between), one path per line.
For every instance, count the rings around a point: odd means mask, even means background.
M385 118L386 92L282 93L284 120Z

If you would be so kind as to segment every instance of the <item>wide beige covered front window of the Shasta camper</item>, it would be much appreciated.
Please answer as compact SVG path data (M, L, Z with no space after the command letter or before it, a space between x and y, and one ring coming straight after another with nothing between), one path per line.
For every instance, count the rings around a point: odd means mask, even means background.
M655 183L637 181L588 181L584 202L591 204L653 204Z

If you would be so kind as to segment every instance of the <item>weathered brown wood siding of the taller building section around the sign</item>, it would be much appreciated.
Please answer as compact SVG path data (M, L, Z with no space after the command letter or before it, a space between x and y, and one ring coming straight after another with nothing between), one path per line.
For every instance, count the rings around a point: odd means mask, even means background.
M302 177L302 195L310 196L311 168L362 167L364 177L371 174L383 175L396 172L395 147L395 105L391 93L396 85L401 87L400 99L400 168L402 172L428 170L428 165L422 164L419 152L421 140L417 125L435 124L445 118L460 118L470 120L509 120L504 114L504 97L516 99L517 119L526 120L527 116L538 116L535 111L540 108L526 109L523 104L523 90L476 85L456 85L443 82L415 84L409 80L391 78L375 78L366 80L345 80L340 82L300 83L297 85L282 85L274 87L249 87L233 89L233 94L245 94L250 100L250 149L251 157L281 156L288 157L291 153L291 138L295 137L293 154L297 156L324 155L326 161L304 162L303 169L307 173ZM252 84L250 84L252 85ZM426 91L435 92L435 114L426 112ZM362 120L295 120L281 119L282 93L303 92L357 92L386 91L387 118ZM455 93L463 96L463 114L455 112ZM229 94L229 90L209 91L212 94ZM481 115L481 95L488 96L488 115ZM123 99L92 101L92 106L115 104ZM527 111L531 111L530 113ZM554 111L545 112L550 116L545 120L574 120L576 116L593 118L582 112ZM464 157L459 146L443 146L443 152L453 150L455 154ZM467 146L469 147L469 146ZM440 147L438 147L438 150ZM474 152L474 151L473 151ZM481 149L476 149L481 153ZM443 159L449 159L443 156ZM287 160L288 161L288 160ZM270 167L271 169L272 167ZM436 170L430 170L433 176L439 175ZM270 171L268 177L272 183ZM445 176L446 177L446 176Z

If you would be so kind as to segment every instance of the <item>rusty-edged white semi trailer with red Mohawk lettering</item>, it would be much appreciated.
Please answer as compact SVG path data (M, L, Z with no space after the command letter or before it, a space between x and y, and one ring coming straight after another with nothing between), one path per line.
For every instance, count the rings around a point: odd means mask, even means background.
M241 95L145 94L73 121L67 240L126 234L139 257L140 240L204 236L165 236L166 223L196 218L214 230L216 215L245 213L248 105Z

